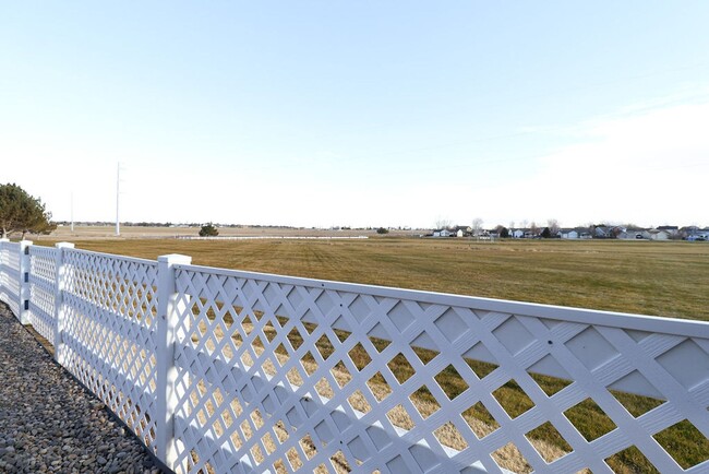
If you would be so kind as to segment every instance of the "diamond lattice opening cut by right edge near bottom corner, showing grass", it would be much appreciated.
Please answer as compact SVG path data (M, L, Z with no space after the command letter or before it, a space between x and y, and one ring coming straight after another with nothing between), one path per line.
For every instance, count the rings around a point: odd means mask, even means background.
M709 460L709 440L688 419L663 429L653 438L682 469Z

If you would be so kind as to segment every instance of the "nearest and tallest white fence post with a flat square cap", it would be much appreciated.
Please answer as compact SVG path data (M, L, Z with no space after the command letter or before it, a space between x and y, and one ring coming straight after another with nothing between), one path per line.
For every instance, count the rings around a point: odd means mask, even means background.
M157 458L175 469L177 459L175 450L175 410L177 393L175 383L177 369L175 367L175 329L178 324L179 311L176 305L177 294L175 284L176 264L190 264L192 257L169 254L160 256L158 261L157 291Z

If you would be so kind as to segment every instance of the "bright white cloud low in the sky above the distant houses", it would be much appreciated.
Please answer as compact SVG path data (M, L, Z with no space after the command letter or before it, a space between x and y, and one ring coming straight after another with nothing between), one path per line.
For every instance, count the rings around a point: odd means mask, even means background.
M585 141L540 159L525 206L569 225L709 223L700 198L709 175L707 123L709 104L589 123Z

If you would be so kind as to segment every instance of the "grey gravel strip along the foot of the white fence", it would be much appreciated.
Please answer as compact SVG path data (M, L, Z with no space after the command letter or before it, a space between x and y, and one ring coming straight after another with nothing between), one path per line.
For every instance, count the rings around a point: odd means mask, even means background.
M161 471L0 304L0 473Z

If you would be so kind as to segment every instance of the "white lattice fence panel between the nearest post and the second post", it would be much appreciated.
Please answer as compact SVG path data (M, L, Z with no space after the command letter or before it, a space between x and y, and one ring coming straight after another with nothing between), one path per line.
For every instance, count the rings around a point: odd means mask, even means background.
M157 263L64 251L64 366L155 450Z

